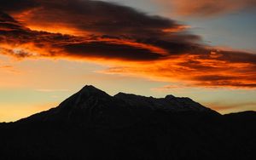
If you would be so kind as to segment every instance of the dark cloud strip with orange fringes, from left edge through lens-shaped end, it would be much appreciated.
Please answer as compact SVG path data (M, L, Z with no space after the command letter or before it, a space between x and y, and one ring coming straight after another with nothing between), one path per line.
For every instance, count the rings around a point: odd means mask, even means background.
M164 55L154 53L150 48L143 48L139 43L122 43L118 39L106 37L74 37L45 31L31 31L20 26L8 14L0 14L0 43L15 45L31 45L25 48L47 49L48 53L40 52L35 56L73 56L79 58L99 57L119 60L158 60ZM8 30L9 29L9 30ZM19 57L31 57L32 49L5 49L6 52ZM63 54L65 53L65 54Z

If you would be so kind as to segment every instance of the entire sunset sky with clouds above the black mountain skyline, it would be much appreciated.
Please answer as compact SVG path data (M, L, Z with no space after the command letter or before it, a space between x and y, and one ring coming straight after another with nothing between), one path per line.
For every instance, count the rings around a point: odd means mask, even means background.
M0 122L84 85L256 111L256 0L0 0Z

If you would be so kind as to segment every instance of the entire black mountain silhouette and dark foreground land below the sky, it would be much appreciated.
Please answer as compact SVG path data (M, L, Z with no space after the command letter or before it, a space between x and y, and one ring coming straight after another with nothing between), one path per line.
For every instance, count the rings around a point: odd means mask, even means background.
M85 86L59 106L0 123L0 159L256 159L256 112L189 98L110 96Z

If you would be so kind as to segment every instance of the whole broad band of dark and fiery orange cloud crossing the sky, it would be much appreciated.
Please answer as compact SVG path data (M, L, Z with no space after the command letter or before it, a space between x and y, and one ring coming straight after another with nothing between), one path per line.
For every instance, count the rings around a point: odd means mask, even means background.
M0 54L90 60L110 66L103 73L186 86L256 88L256 54L207 46L175 20L90 0L0 6Z

